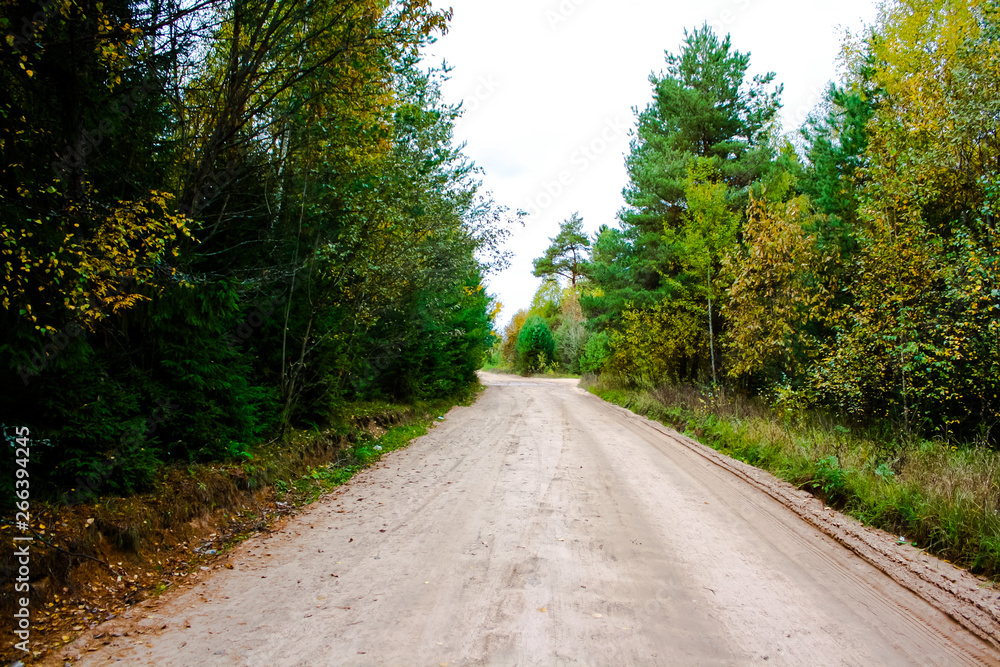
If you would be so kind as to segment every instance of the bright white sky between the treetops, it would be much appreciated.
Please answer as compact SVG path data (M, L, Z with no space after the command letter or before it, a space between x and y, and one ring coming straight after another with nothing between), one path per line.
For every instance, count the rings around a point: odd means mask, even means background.
M489 278L502 326L540 280L531 261L579 211L593 233L624 206L633 107L652 99L650 72L679 51L684 29L708 22L751 53L751 73L785 85L786 132L838 77L843 29L875 19L876 0L436 0L454 8L428 63L454 68L450 101L465 101L456 138L485 170L499 204L530 212L515 228L511 268ZM562 182L560 182L560 178Z

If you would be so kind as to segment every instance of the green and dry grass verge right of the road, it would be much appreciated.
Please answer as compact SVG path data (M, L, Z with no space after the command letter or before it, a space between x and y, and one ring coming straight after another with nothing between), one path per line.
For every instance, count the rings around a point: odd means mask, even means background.
M600 398L763 468L863 523L997 582L1000 454L939 440L895 441L821 415L690 386L629 389L589 376Z

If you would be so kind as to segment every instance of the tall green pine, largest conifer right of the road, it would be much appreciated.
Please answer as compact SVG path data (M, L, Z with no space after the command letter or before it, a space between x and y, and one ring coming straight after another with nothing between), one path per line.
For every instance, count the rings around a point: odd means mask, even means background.
M749 54L707 25L685 32L666 64L637 112L622 229L598 236L583 304L595 330L614 333L612 369L698 381L718 365L722 258L739 238L751 184L772 171L781 86L771 87L773 72L749 77Z

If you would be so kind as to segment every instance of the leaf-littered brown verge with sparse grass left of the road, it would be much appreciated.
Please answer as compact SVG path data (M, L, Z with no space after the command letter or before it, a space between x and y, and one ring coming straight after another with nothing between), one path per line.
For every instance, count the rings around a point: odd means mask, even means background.
M165 469L149 493L79 505L34 502L41 528L32 544L32 655L15 654L8 643L0 646L0 664L31 664L200 569L223 566L232 547L406 447L481 389L406 405L345 404L328 424L254 447L245 461ZM0 526L0 534L10 528ZM12 544L0 541L0 583L16 571ZM0 596L7 619L0 632L12 630L12 604Z

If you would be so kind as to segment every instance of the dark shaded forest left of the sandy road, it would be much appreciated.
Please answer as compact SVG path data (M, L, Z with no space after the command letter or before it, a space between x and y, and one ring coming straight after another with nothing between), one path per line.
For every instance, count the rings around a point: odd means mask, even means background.
M516 216L421 61L450 17L3 3L0 422L12 447L30 428L33 498L143 491L476 382Z

